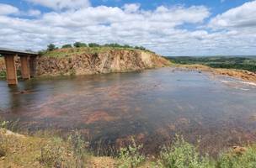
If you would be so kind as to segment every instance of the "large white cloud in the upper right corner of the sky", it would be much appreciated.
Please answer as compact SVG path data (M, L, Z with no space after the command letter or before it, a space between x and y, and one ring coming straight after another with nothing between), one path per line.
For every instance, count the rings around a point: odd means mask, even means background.
M218 14L211 19L209 26L214 29L256 28L256 1Z

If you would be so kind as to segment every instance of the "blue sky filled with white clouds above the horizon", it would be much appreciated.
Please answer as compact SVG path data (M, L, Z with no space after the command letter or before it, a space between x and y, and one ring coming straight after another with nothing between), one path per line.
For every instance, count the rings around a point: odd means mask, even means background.
M160 55L256 55L256 0L0 0L0 47L142 45Z

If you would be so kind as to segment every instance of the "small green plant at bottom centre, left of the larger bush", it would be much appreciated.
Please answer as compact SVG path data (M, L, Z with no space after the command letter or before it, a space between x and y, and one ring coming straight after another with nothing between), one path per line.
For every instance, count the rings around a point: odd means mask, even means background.
M132 139L132 144L128 148L120 149L120 168L135 168L146 160L144 155L141 155L140 150L143 145L137 145L135 139Z

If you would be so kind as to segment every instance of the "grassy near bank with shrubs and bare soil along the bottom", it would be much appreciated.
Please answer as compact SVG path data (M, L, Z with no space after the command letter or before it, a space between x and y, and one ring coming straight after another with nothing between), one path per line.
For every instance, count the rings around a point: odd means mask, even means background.
M176 141L163 147L157 157L145 156L142 145L135 141L120 150L117 156L93 156L80 134L74 132L67 139L54 134L23 135L0 129L0 167L192 167L240 168L256 165L256 146L234 146L214 160L200 154L197 148L177 136Z

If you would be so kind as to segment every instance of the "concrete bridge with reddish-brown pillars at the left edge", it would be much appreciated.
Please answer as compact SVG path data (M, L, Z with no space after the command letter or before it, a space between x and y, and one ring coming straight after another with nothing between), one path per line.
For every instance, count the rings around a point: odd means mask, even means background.
M15 56L20 57L22 78L24 80L27 80L30 79L31 76L35 76L35 59L38 56L37 53L0 48L0 55L4 57L8 85L18 84L17 71L14 59Z

